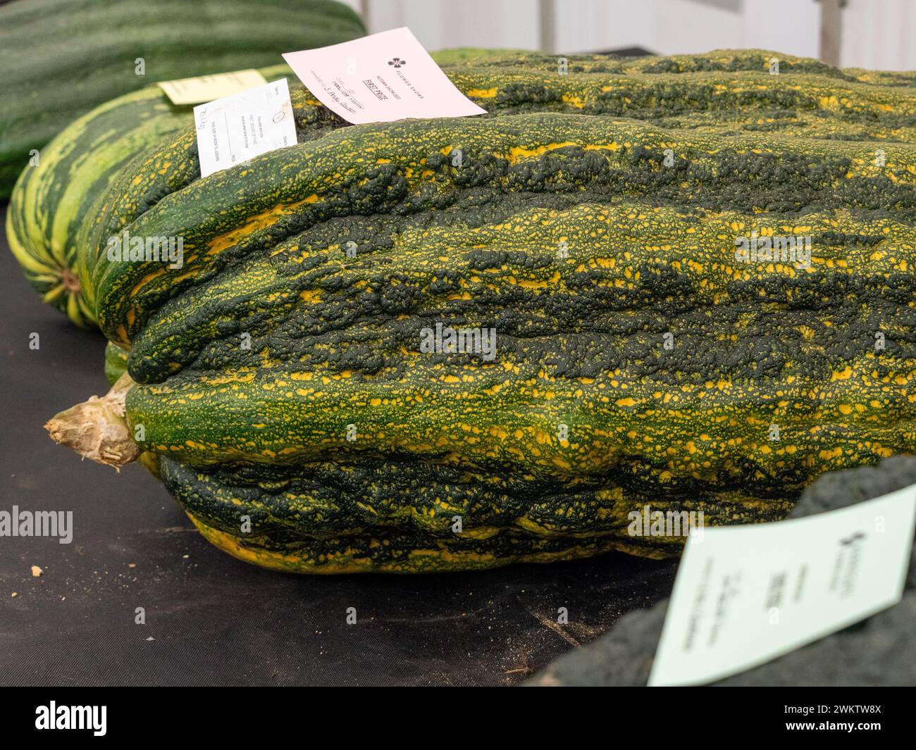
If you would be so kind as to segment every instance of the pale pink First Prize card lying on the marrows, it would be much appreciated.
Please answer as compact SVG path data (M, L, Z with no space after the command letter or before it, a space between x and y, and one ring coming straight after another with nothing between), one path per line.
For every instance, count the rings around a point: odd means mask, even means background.
M455 88L407 27L283 55L300 81L348 123L486 114Z

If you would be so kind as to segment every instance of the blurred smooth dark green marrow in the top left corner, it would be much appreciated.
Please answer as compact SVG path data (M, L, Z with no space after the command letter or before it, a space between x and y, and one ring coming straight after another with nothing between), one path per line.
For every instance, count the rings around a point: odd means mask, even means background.
M93 107L150 82L260 68L361 37L333 0L16 0L0 5L0 199L29 151ZM27 50L23 40L28 40ZM142 58L145 70L136 72Z

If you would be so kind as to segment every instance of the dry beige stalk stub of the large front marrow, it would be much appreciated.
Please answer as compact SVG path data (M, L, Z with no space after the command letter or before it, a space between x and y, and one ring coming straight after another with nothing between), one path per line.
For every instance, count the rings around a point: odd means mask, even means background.
M51 440L66 445L96 463L114 466L136 461L140 449L131 437L125 417L125 398L134 385L130 375L121 375L103 397L90 397L51 418L45 425Z

